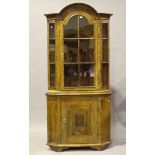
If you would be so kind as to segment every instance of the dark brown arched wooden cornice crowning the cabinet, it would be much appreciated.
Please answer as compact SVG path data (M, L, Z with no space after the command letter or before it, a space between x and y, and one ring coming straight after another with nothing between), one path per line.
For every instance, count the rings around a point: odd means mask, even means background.
M64 19L69 13L73 12L87 12L94 16L96 19L109 19L112 14L109 13L98 13L93 7L84 3L73 3L64 7L59 13L45 14L47 19Z

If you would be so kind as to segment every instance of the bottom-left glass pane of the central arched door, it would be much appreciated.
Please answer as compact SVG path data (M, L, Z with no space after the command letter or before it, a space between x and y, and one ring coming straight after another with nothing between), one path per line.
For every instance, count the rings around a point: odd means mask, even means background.
M64 86L73 87L79 85L78 65L64 65Z

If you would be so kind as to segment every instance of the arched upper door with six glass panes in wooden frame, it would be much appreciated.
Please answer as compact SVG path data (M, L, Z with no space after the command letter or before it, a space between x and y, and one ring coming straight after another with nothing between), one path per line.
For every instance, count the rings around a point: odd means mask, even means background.
M97 23L82 13L67 16L62 23L61 68L63 90L97 88Z

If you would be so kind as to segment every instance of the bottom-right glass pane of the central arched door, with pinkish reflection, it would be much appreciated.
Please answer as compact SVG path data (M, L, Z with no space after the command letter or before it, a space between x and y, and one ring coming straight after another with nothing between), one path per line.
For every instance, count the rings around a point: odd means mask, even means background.
M94 86L94 64L80 65L80 86Z

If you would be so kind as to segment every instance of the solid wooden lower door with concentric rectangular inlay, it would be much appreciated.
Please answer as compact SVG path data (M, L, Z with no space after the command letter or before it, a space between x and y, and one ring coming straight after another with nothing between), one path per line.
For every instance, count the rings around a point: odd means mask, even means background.
M97 142L97 98L61 98L61 137L65 144Z

